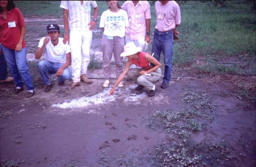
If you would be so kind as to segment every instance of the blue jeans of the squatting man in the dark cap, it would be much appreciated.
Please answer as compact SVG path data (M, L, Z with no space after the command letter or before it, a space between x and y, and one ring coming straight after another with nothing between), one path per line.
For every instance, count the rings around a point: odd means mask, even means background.
M63 63L53 63L45 60L41 60L38 63L38 70L43 78L44 85L50 85L49 74L56 74L59 68L63 66ZM68 68L65 68L63 74L58 77L59 82L70 79L71 73Z

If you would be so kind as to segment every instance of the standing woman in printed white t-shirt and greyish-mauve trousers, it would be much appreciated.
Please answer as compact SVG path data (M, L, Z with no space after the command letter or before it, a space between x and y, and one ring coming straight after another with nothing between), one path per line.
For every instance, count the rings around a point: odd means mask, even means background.
M125 28L129 26L127 12L121 9L117 1L107 1L109 9L104 11L100 18L100 27L103 32L101 49L103 55L103 73L105 76L104 88L109 87L111 73L110 64L114 53L116 77L122 73L123 62L120 54L124 51ZM123 82L118 87L123 87Z

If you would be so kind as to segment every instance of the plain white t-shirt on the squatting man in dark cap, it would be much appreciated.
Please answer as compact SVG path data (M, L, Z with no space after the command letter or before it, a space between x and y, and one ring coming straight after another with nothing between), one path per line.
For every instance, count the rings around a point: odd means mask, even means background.
M46 37L43 37L40 39L38 47L42 47L44 45L44 39ZM50 37L47 37L50 38ZM45 60L48 62L53 63L65 63L66 62L66 54L70 53L70 46L68 43L63 43L63 38L59 38L59 43L54 46L49 40L49 42L44 47L45 51Z

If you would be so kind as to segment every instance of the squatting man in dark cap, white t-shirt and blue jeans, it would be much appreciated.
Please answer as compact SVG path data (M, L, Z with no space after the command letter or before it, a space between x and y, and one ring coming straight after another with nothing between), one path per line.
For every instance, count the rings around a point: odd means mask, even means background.
M45 50L45 60L38 63L38 69L43 78L44 91L49 92L51 91L49 74L58 76L58 85L64 85L65 80L70 79L71 73L67 67L71 63L71 53L68 43L63 44L63 38L59 38L59 26L49 24L46 28L49 37L40 40L35 59L40 59Z

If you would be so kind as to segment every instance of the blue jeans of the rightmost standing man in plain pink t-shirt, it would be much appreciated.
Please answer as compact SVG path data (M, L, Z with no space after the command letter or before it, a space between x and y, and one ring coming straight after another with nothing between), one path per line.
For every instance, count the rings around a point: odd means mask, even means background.
M159 32L155 30L154 39L152 44L152 53L158 55L158 61L160 60L160 53L163 51L165 73L163 81L169 83L171 80L171 68L172 68L172 51L173 51L173 31Z

